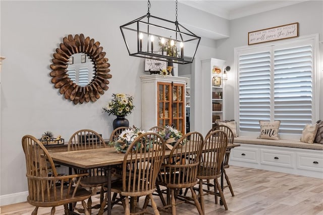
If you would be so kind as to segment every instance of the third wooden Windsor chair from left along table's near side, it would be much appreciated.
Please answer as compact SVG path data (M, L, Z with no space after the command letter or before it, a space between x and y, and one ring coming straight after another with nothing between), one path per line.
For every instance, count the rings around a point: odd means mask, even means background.
M215 130L210 132L204 139L202 154L200 157L200 165L197 172L199 179L199 200L202 210L204 210L204 195L214 195L217 202L217 196L221 197L225 209L228 209L226 199L224 197L221 184L218 178L221 177L221 166L224 161L228 145L228 137L226 132L222 130ZM203 180L214 181L214 191L203 189ZM208 185L209 183L207 183Z

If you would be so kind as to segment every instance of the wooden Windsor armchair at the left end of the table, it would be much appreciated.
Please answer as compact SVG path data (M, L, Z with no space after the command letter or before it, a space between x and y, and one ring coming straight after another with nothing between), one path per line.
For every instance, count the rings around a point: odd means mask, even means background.
M50 214L53 215L55 207L59 205L64 205L65 214L69 214L68 204L77 201L82 201L84 213L90 215L85 199L88 199L91 193L80 187L80 182L84 176L88 175L87 173L59 176L46 148L34 136L23 136L22 148L27 168L27 201L36 206L32 215L37 214L38 207L52 207ZM75 178L77 180L73 183ZM67 181L68 185L66 185Z

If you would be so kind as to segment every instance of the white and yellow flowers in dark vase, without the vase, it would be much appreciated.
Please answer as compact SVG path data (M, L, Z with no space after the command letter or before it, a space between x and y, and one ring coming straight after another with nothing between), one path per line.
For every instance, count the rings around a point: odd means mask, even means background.
M115 116L127 116L132 113L134 105L132 103L133 97L128 94L112 94L113 99L103 107L103 110L109 115L113 114Z

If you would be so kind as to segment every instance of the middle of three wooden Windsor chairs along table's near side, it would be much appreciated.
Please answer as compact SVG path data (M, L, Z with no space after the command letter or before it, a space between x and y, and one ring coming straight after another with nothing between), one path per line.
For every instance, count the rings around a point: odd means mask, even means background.
M198 183L197 170L202 144L203 136L196 131L186 133L177 140L171 150L170 157L161 165L156 180L157 192L164 205L163 207L158 207L159 210L171 212L175 215L176 205L188 200L187 196L180 196L179 193L181 193L183 188L189 188L192 194L189 199L193 199L193 204L196 206L199 214L203 214L201 205L193 190L194 185ZM165 191L161 190L160 186L167 188L167 203L162 195ZM171 208L171 211L169 208Z

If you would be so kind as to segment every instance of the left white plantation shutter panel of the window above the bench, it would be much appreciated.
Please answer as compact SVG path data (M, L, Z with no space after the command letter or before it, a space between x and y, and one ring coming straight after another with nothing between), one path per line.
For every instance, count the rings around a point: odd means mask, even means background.
M239 55L239 121L241 131L259 131L259 120L271 119L271 52Z

